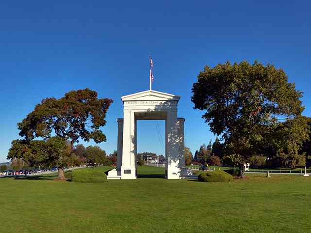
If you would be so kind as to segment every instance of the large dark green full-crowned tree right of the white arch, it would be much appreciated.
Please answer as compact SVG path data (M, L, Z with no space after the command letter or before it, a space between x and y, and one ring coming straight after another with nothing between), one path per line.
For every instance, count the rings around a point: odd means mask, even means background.
M194 108L211 131L222 136L225 153L240 165L258 152L258 144L271 140L267 135L284 119L295 120L303 107L302 92L289 83L282 69L258 62L206 66L193 84ZM305 129L307 130L307 129Z

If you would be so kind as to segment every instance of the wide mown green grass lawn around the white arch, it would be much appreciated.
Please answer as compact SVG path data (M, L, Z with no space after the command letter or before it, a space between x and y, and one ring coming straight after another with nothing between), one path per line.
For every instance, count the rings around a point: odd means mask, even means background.
M163 168L148 166L138 175L106 183L1 178L0 232L311 232L311 178L202 183L166 180Z

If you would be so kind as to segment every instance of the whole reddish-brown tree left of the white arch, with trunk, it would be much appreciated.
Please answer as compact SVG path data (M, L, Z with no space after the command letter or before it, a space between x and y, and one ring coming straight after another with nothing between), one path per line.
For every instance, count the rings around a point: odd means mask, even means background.
M31 164L55 164L58 167L58 178L65 179L64 166L72 155L74 143L91 139L95 143L106 141L100 128L106 124L106 113L112 102L107 98L99 99L96 91L87 88L69 91L59 99L43 99L17 124L19 135L24 139L12 142L8 159L15 156ZM66 145L68 141L70 148Z

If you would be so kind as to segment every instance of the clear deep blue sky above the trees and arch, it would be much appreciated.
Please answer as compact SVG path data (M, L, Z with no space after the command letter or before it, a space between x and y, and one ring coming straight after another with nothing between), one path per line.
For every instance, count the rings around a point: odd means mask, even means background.
M45 97L91 88L112 98L103 128L116 149L120 96L153 89L180 95L185 142L214 139L193 109L191 86L205 65L255 59L283 68L311 116L308 1L0 1L0 162L20 122ZM162 138L164 124L160 122ZM139 122L138 152L163 153L155 122Z

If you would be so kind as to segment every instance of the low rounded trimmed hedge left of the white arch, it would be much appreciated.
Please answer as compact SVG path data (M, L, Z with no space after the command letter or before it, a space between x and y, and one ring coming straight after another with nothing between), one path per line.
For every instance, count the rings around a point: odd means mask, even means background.
M72 182L101 183L107 182L107 175L103 171L93 171L91 169L77 169L71 172Z

